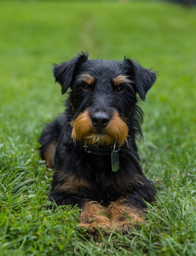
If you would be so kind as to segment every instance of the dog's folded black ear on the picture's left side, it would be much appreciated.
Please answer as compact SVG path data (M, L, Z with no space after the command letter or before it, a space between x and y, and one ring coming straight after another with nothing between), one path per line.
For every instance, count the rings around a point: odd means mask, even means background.
M61 85L61 92L64 94L71 86L71 82L76 74L80 64L88 60L88 54L81 52L77 57L72 58L70 61L62 62L57 65L54 64L53 74L55 82Z

